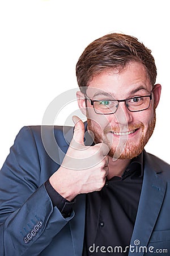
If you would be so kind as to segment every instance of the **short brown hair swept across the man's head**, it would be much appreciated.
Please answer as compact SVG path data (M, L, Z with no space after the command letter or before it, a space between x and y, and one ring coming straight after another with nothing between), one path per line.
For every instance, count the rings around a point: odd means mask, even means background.
M80 89L88 86L93 77L106 69L123 69L130 61L146 67L152 86L156 81L156 65L151 50L133 36L112 33L89 44L76 64Z

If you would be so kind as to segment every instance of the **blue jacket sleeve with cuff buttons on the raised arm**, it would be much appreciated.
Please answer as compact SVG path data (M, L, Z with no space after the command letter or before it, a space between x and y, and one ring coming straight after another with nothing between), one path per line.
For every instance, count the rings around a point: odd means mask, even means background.
M74 217L53 207L40 174L35 138L23 127L0 171L1 256L40 254Z

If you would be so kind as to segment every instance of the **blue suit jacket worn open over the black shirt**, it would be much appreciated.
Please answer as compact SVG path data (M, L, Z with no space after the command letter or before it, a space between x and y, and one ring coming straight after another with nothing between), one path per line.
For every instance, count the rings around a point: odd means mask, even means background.
M44 187L62 163L73 127L65 127L65 137L61 126L54 129L58 149L52 148L52 154L58 163L46 153L40 130L40 126L20 130L0 171L0 255L80 256L86 195L78 195L71 216L63 218ZM45 127L45 131L50 150L52 130ZM154 247L150 251L167 249L170 255L169 164L146 152L144 158L142 192L130 243L134 247L129 255L153 255L149 251L146 254L145 246ZM137 240L144 246L141 252Z

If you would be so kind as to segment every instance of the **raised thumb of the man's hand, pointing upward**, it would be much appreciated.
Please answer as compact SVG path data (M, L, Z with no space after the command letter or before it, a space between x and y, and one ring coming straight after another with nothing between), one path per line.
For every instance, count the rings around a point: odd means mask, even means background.
M76 143L84 144L84 132L85 132L84 123L76 115L73 115L72 119L73 119L73 122L75 124L72 141L74 141ZM71 143L73 143L72 141L71 141Z

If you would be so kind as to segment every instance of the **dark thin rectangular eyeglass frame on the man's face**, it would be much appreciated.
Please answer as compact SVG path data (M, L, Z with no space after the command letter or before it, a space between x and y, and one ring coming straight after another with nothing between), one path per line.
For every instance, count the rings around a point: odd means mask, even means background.
M137 97L132 97L132 98L126 98L125 100L109 100L109 99L105 99L105 100L91 100L91 98L89 98L88 96L87 96L87 94L84 94L85 96L86 96L86 99L85 100L90 100L90 103L91 103L91 105L94 107L94 110L95 110L95 113L96 114L101 114L101 115L111 115L111 114L114 114L114 113L116 113L117 112L117 109L118 109L118 106L119 106L119 102L125 102L125 106L126 106L126 108L130 111L130 112L141 112L141 111L143 111L143 110L146 110L146 109L148 109L149 107L150 107L150 105L151 105L151 100L152 100L152 90L151 90L151 94L150 95L145 95L145 96L137 96ZM126 104L126 101L128 101L128 100L132 100L133 98L145 98L145 97L149 97L150 98L150 103L149 103L149 105L148 105L148 107L146 108L146 109L142 109L142 110L130 110L129 108L128 108L128 105ZM117 108L116 108L116 111L115 112L112 112L112 113L105 113L105 114L103 114L103 113L97 113L96 112L96 109L95 109L95 106L94 106L94 102L99 102L99 101L117 101L118 102L118 105L117 105Z

